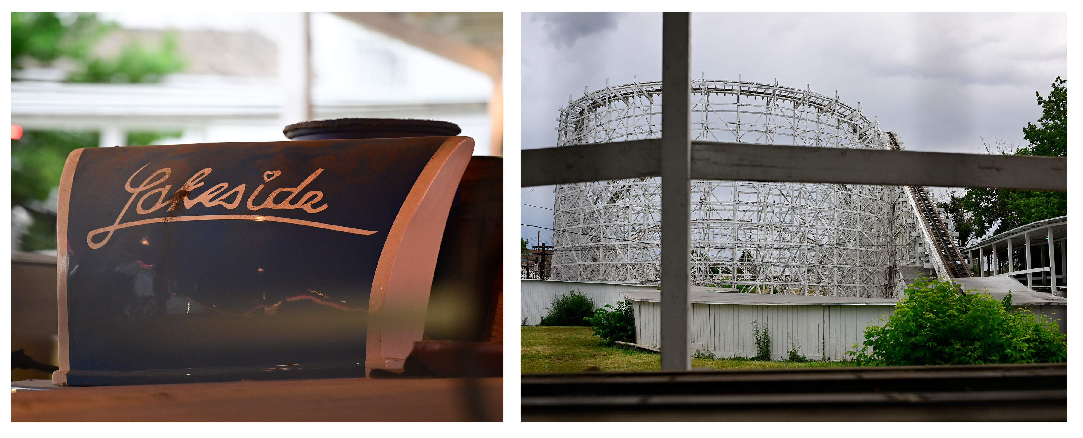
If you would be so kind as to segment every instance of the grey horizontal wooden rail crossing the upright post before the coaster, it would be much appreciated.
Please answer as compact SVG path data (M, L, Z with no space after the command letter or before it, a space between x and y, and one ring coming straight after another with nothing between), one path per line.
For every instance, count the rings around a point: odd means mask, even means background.
M662 174L662 141L524 149L522 186ZM692 142L695 180L1068 190L1068 160L984 154Z

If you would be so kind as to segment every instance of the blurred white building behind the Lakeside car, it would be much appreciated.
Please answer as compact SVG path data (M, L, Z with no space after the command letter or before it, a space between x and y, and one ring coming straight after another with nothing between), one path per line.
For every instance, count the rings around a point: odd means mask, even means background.
M260 21L256 28L239 31L229 31L230 17L224 15L178 25L168 16L103 14L122 29L99 51L119 51L126 39L157 44L172 28L188 61L185 71L160 83L66 83L61 82L63 68L24 69L16 75L19 80L11 82L12 123L28 130L96 130L102 133L100 146L125 145L130 131L183 132L156 144L285 141L286 96L300 88L309 91L312 120L445 120L477 141L475 155L490 155L488 102L499 96L491 75L337 15L311 13L306 81L303 74L279 74L304 63L304 44L296 43L303 41L303 29L288 26L290 14L236 14L238 21ZM133 26L144 28L129 28ZM288 43L302 48L300 55ZM279 58L284 52L287 57Z

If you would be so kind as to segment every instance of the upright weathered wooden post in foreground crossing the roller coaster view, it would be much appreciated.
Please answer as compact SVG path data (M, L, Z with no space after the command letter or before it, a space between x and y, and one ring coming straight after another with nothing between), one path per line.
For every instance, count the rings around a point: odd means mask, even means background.
M692 142L688 12L662 14L662 369L689 370Z

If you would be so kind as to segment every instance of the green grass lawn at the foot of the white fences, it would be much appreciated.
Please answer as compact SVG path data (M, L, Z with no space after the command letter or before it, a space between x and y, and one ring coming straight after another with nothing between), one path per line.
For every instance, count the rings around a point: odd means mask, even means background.
M570 372L598 367L602 371L645 371L658 370L658 354L641 348L605 342L589 327L546 327L523 326L522 372ZM852 362L779 362L747 359L696 359L692 368L807 368L807 367L852 367Z

